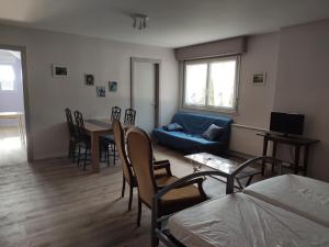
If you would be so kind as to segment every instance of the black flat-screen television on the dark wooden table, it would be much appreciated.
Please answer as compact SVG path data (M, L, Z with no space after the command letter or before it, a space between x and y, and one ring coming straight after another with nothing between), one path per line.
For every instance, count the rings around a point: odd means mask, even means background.
M303 135L304 115L295 113L271 112L270 131L284 135Z

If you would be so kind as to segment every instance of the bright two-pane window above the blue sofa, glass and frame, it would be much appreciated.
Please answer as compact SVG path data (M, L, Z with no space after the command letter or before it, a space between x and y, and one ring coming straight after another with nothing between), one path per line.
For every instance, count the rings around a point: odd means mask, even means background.
M235 111L238 56L184 64L184 108Z

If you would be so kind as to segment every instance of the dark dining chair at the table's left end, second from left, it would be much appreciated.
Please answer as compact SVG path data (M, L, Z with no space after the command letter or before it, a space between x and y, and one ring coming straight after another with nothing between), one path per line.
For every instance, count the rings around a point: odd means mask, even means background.
M76 130L77 130L77 136L78 136L78 166L80 166L80 159L81 159L81 147L84 150L83 154L83 170L86 170L87 166L87 157L91 154L91 141L90 136L86 134L84 130L84 123L82 113L79 111L75 111L75 119L76 119Z

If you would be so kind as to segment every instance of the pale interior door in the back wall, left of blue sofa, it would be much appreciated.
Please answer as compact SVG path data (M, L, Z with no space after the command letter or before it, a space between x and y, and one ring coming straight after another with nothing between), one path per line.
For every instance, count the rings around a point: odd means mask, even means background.
M161 61L131 58L131 105L136 125L147 133L159 125L159 85Z

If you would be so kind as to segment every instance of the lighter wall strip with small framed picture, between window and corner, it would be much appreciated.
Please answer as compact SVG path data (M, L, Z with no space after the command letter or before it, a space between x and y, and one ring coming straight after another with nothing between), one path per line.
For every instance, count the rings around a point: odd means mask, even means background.
M273 108L280 33L251 36L248 49L241 57L239 101L237 114L231 116L237 124L269 128ZM252 85L253 72L265 72L265 85ZM261 155L260 131L232 126L230 149L248 155Z

